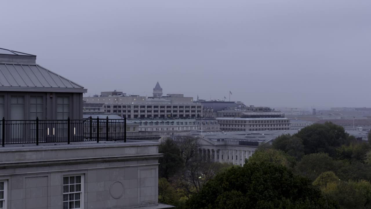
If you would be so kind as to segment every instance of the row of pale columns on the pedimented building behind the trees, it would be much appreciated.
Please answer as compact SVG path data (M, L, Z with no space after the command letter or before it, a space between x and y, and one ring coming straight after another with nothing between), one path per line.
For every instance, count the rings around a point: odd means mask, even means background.
M246 149L198 149L201 160L213 160L219 163L233 163L244 165L245 159L249 159L254 151Z

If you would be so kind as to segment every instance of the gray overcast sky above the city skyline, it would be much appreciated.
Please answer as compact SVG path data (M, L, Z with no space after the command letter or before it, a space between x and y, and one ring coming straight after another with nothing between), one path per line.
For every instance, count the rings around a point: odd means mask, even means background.
M1 1L0 48L83 85L371 106L371 0Z

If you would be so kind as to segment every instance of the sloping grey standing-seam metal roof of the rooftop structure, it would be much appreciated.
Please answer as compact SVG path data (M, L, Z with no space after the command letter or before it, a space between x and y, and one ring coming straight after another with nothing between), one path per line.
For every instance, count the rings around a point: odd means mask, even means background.
M8 50L10 51L10 50ZM13 52L13 51L11 51ZM20 53L20 52L16 52ZM69 89L69 90L67 90ZM83 86L40 65L0 63L1 91L86 92Z

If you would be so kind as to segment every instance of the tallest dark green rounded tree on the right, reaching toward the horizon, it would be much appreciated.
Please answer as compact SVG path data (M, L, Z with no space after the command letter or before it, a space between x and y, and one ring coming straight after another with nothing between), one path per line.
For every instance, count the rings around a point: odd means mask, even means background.
M307 126L293 136L303 140L305 154L325 152L330 156L336 155L336 147L348 145L350 140L342 126L331 122Z

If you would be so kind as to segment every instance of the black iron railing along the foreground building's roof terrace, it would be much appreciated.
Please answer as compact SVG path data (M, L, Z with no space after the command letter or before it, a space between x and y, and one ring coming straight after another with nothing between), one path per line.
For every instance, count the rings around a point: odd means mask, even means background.
M0 141L5 144L117 141L126 142L126 118L66 120L0 120Z

